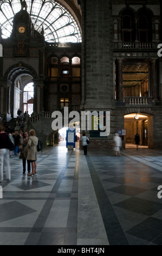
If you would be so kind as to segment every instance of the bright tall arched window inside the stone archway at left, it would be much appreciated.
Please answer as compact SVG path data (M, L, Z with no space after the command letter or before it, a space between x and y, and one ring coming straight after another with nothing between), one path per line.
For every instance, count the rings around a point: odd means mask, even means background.
M28 111L29 115L33 113L33 98L34 98L33 83L28 83L23 90L23 112Z

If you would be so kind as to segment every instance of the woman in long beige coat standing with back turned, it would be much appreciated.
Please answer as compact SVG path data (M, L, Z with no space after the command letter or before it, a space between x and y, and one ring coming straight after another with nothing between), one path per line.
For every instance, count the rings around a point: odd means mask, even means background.
M25 150L27 150L27 160L31 163L32 172L28 173L28 175L34 175L36 173L37 167L37 144L38 138L35 136L35 130L29 131L29 139Z

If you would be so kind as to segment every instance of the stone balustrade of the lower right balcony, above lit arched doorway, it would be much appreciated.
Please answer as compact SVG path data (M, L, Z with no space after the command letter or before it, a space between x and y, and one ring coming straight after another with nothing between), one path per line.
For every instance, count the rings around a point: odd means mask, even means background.
M151 105L152 97L125 97L126 105Z

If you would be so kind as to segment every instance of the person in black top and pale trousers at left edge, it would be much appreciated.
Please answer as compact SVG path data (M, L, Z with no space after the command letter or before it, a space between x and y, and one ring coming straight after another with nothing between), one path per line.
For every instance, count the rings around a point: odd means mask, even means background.
M9 149L7 148L9 135L4 132L5 128L0 125L0 182L3 180L3 170L8 181L11 180L11 170L9 163Z

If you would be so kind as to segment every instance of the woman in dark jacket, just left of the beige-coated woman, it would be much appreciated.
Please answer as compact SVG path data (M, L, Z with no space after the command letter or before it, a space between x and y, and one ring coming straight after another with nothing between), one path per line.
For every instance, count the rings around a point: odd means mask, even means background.
M21 145L19 148L21 152L19 158L23 160L23 174L25 174L26 171L26 162L28 164L28 173L30 173L30 161L27 160L27 151L24 150L28 143L28 132L23 132L23 136L20 139L20 143Z

